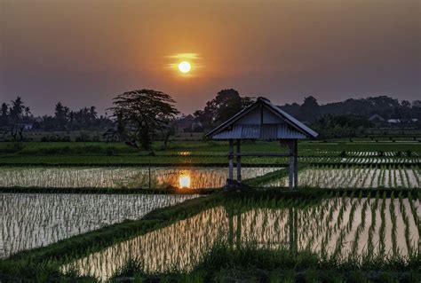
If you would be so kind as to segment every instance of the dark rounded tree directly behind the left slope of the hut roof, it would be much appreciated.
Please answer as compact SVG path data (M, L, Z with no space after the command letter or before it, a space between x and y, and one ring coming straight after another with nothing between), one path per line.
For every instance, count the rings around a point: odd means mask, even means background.
M215 98L206 103L203 110L197 110L194 115L205 128L209 128L228 120L251 103L251 98L242 98L237 90L220 90Z

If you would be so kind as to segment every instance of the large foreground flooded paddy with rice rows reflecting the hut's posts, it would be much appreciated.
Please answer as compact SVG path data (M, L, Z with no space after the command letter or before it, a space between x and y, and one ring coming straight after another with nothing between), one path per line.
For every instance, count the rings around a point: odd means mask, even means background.
M303 200L301 200L303 201ZM359 260L409 256L418 248L419 200L336 197L315 203L246 200L208 208L187 219L104 248L62 266L105 281L129 259L146 271L189 271L220 240L261 248L310 250ZM287 206L286 206L287 205ZM293 244L293 245L292 245Z

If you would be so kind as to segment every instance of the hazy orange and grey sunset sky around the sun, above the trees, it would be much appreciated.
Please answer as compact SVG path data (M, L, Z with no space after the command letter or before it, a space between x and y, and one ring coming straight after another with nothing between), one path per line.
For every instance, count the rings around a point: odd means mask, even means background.
M0 0L0 102L36 115L128 90L185 114L218 90L276 104L421 98L418 0ZM177 70L187 59L188 75Z

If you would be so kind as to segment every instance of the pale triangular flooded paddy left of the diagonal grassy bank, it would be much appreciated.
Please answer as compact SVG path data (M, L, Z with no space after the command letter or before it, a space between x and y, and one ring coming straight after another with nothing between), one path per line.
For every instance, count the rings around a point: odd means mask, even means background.
M194 195L0 193L0 258L136 220Z

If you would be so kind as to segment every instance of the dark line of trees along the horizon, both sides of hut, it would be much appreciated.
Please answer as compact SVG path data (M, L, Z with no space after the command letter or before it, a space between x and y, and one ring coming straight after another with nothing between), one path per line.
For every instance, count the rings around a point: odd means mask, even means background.
M193 119L200 124L199 130L210 130L253 101L253 98L241 96L237 90L220 90L215 98L206 102L203 110L194 112ZM95 106L74 111L61 102L56 104L53 115L34 117L18 97L9 104L2 104L0 130L9 132L14 140L23 138L26 123L31 123L33 129L45 131L108 130L113 137L128 145L150 149L156 139L163 140L166 145L176 131L177 122L183 119L174 104L175 100L162 91L131 90L114 98L113 107L108 109L112 113L109 117L99 116ZM328 136L332 132L342 137L372 127L369 117L373 114L384 119L415 119L418 120L417 127L421 121L420 100L400 102L386 96L351 98L325 105L319 105L316 98L308 96L301 105L293 103L280 107L322 133L322 138L331 138Z

